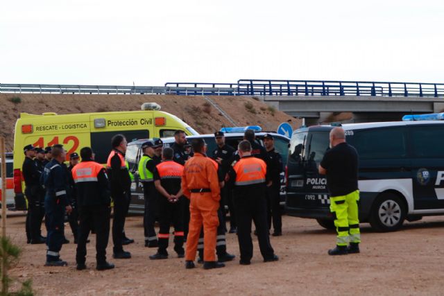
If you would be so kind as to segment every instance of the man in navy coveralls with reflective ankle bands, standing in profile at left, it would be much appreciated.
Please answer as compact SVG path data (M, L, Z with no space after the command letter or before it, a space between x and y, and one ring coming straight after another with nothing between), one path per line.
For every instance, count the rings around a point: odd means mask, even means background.
M48 232L45 266L65 266L67 262L60 259L59 252L64 238L65 211L69 214L72 209L67 196L67 171L61 166L66 154L62 145L54 145L51 155L51 162L46 164L43 173L43 184L46 189L44 209Z

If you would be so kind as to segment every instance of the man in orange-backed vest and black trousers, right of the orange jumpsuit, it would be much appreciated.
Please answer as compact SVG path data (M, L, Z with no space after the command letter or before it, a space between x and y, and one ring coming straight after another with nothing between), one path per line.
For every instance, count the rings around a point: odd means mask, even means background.
M234 164L230 178L234 180L234 207L237 211L237 238L241 252L241 265L250 264L253 257L251 240L251 222L257 230L257 240L264 262L277 261L268 236L266 223L266 184L270 184L270 176L266 173L266 164L262 159L251 155L249 141L239 143L241 159Z

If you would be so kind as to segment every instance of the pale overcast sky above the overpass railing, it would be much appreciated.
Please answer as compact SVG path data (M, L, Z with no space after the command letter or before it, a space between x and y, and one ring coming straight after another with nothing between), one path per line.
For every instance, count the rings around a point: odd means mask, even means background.
M3 1L0 83L444 82L443 1Z

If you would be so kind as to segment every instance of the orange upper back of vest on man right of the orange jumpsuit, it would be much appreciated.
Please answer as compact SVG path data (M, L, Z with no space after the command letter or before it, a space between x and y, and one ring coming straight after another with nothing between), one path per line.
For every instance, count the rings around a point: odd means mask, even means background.
M266 164L262 159L256 157L244 157L234 167L236 172L236 185L250 185L265 182Z

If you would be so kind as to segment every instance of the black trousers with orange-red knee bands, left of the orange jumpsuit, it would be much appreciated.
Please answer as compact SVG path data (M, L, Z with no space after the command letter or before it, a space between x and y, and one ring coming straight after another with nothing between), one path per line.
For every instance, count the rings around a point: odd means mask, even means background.
M183 202L185 197L179 198L178 202L171 203L164 198L159 196L159 249L160 254L167 255L167 247L169 244L169 227L173 223L174 227L174 250L178 254L185 254L183 248Z

